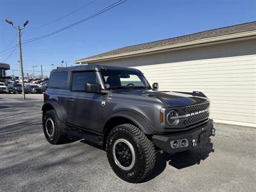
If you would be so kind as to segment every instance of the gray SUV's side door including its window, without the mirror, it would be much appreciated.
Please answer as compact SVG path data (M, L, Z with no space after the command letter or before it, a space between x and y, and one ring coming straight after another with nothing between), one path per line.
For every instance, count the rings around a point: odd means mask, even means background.
M85 92L86 83L99 83L94 71L72 72L67 94L67 122L82 129L100 132L102 94Z

